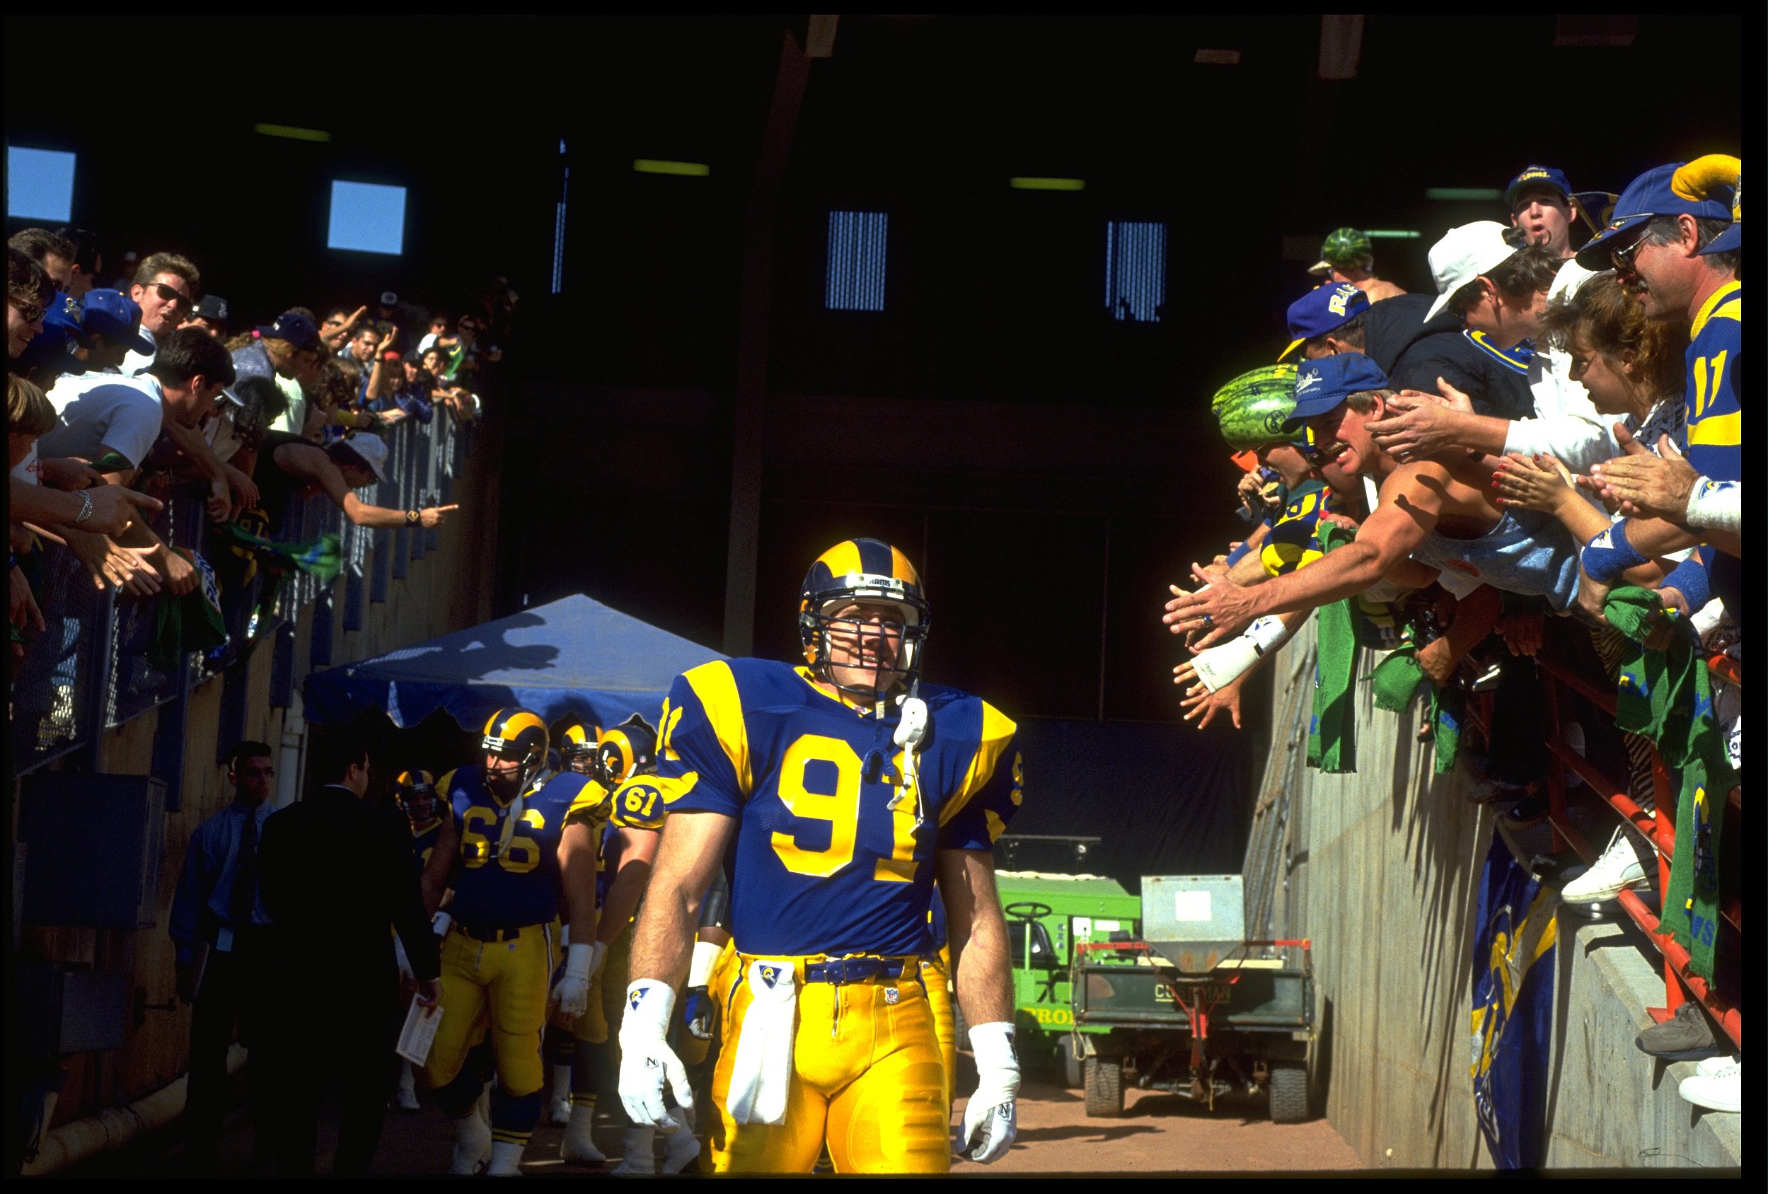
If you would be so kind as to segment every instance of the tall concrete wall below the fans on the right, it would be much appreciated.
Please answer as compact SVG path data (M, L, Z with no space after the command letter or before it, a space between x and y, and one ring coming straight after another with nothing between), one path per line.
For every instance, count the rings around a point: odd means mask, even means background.
M1294 761L1307 734L1314 624L1275 665L1271 766L1294 778L1287 900L1291 936L1314 941L1319 1005L1315 1111L1370 1167L1489 1169L1467 1072L1473 934L1492 814L1469 805L1462 769L1436 775L1414 741L1416 706L1376 709L1358 693L1354 775ZM1358 676L1379 656L1363 653ZM1285 729L1287 725L1287 729ZM1291 766L1294 762L1294 766ZM1266 784L1269 789L1269 782ZM1588 833L1588 831L1586 831ZM1547 1162L1738 1166L1741 1116L1703 1113L1634 1037L1662 1006L1660 957L1630 922L1559 913Z

